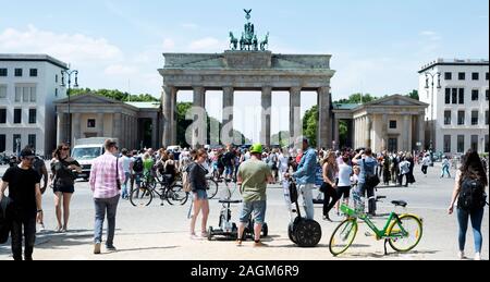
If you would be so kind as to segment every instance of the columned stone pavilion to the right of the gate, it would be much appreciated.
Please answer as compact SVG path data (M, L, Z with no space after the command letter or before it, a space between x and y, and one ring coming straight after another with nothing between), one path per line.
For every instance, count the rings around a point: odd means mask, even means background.
M347 105L348 106L348 105ZM376 152L421 150L425 144L425 111L428 105L393 95L365 105L333 105L335 143L340 121L347 121L347 145ZM345 147L340 144L340 147Z

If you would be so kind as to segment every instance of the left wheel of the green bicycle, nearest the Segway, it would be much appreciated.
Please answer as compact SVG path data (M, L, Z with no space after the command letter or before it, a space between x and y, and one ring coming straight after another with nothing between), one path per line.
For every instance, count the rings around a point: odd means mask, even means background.
M330 253L335 257L345 253L345 250L347 250L354 242L356 234L356 219L347 219L342 222L335 231L333 231L332 237L330 238Z

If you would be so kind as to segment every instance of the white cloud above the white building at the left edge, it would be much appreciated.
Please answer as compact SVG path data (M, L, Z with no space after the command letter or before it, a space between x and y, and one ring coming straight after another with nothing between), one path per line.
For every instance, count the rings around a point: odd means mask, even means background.
M123 59L123 52L106 38L93 38L83 34L56 34L38 29L34 25L24 30L7 28L1 32L0 52L47 53L74 64Z

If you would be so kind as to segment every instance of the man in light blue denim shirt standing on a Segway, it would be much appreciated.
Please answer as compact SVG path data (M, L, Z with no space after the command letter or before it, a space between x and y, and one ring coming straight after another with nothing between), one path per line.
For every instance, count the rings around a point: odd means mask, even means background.
M303 206L305 207L306 218L315 218L315 207L313 203L313 189L315 188L316 168L317 168L317 152L309 147L309 140L302 137L303 157L298 163L297 171L293 173L296 180L298 189L303 196ZM286 173L285 177L290 174Z

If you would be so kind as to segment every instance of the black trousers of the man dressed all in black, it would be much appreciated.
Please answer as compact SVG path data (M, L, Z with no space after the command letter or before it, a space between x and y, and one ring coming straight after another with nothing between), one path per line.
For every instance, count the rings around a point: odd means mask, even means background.
M22 230L24 229L24 232ZM22 260L22 237L24 236L24 258L33 260L36 243L36 217L16 216L12 221L12 255L14 260Z

